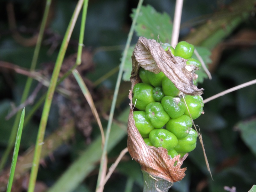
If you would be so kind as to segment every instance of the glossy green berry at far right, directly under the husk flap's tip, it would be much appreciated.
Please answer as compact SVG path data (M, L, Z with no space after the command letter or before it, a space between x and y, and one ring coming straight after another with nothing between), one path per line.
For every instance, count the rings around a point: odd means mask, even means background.
M204 102L203 102L202 96L201 95L196 95L196 96L185 95L184 98L188 106L188 109L186 108L184 114L190 117L189 115L190 113L192 119L198 118L203 113ZM184 102L183 98L182 98L182 101Z

